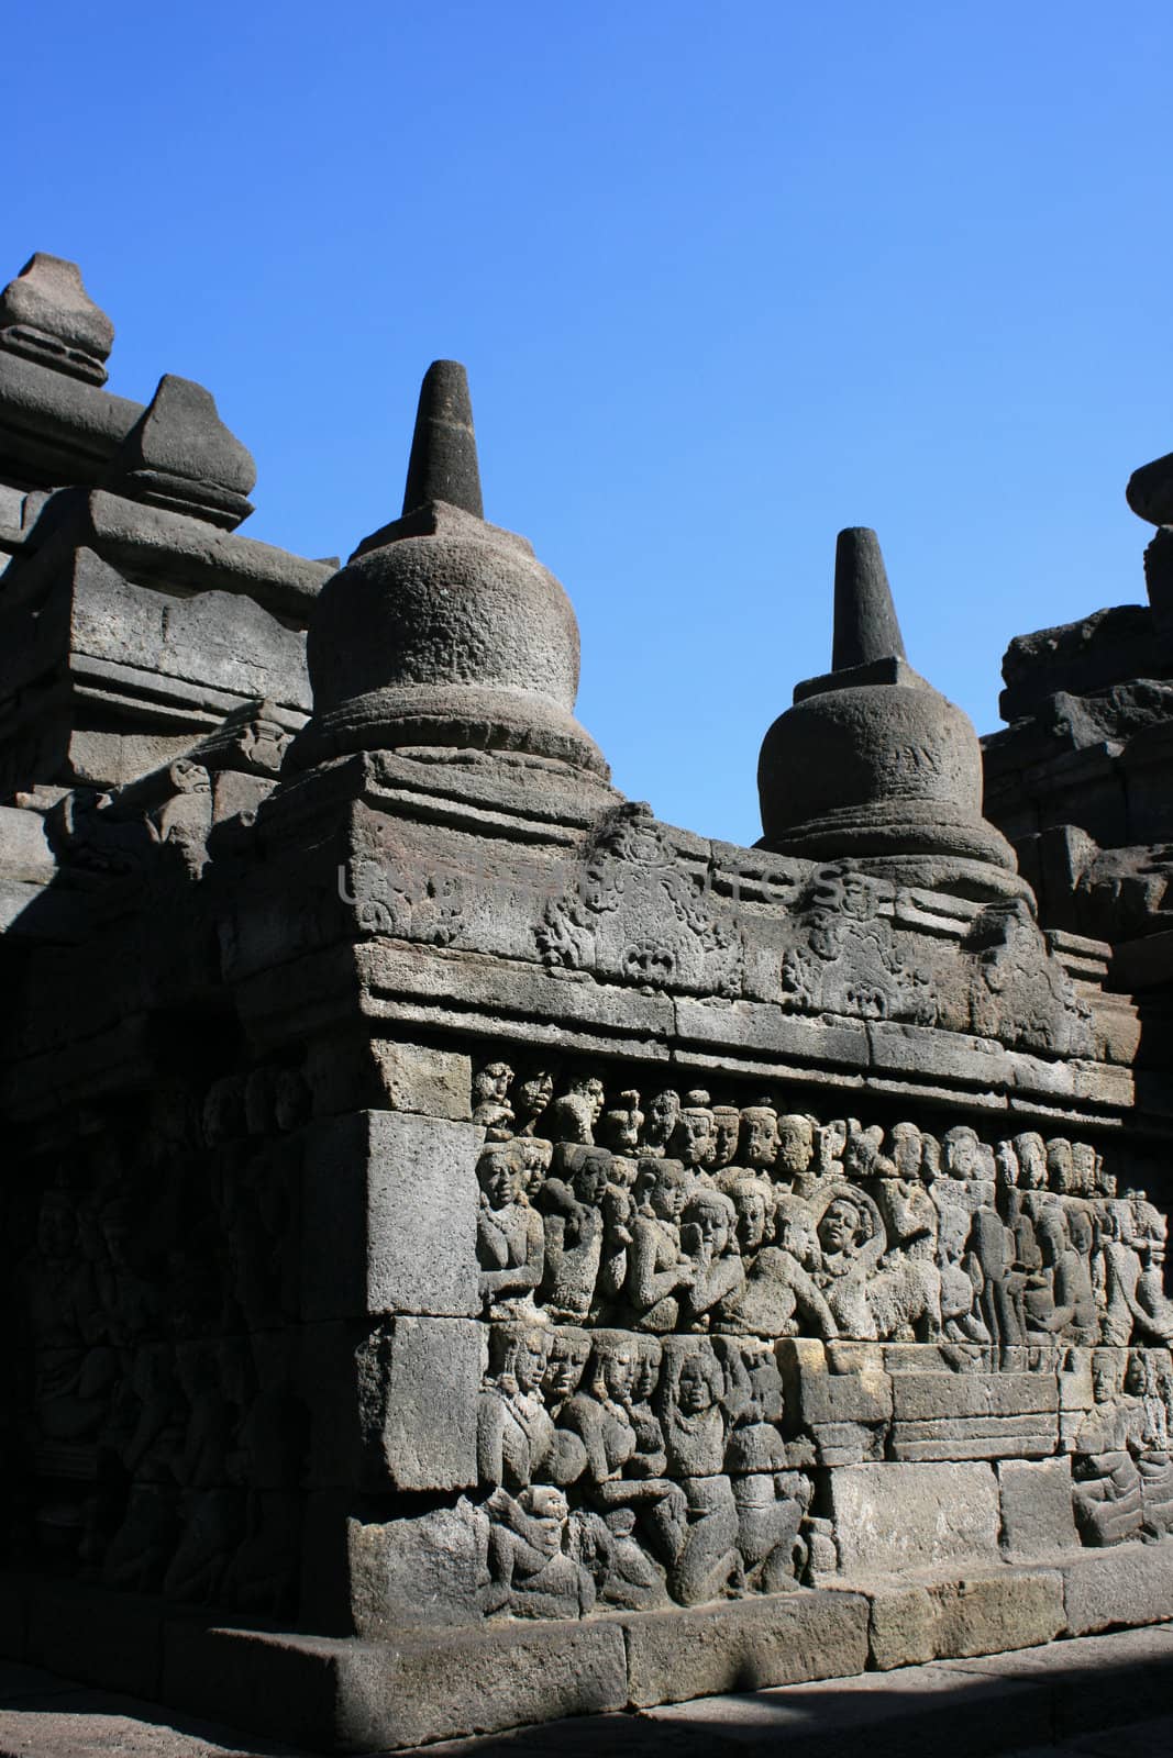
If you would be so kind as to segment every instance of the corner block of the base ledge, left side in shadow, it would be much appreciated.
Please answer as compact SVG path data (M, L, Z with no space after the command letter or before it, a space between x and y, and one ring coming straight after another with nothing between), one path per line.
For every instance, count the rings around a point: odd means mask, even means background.
M617 1621L503 1623L394 1642L176 1630L169 1702L299 1747L396 1751L623 1709Z

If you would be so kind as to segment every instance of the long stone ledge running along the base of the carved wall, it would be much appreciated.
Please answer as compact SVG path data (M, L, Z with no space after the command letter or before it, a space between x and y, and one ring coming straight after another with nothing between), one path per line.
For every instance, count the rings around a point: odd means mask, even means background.
M1029 1568L943 1565L691 1610L413 1628L378 1642L222 1628L193 1607L16 1573L0 1575L0 1647L14 1660L76 1674L70 1631L100 1626L93 1684L301 1747L401 1749L823 1679L862 1686L871 1668L973 1668L1015 1651L1038 1668L1066 1645L1055 1637L1173 1621L1173 1540L1057 1551Z

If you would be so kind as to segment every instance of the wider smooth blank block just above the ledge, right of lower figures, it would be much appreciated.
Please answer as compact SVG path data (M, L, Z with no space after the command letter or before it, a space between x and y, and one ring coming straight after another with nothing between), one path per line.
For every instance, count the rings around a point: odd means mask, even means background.
M828 1473L828 1494L844 1573L997 1556L988 1464L849 1464Z

